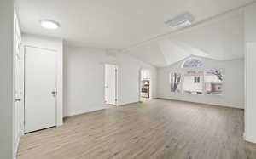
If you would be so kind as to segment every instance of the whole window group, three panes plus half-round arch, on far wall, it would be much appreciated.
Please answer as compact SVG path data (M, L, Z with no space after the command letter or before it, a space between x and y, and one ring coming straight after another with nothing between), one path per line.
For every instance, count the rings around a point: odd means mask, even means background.
M170 73L171 92L181 94L223 94L223 71L206 69L205 63L199 58L189 58L183 62L180 72Z

